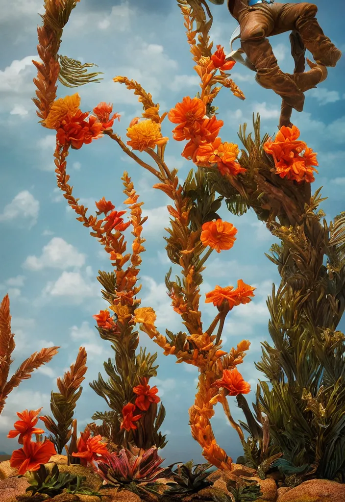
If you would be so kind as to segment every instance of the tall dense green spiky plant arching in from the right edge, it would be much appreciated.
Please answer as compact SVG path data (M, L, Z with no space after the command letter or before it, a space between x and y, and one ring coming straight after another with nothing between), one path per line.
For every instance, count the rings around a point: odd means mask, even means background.
M278 462L286 476L303 467L296 482L303 475L344 480L345 336L336 327L345 308L345 213L328 225L318 209L325 200L320 189L311 195L310 183L276 174L263 150L268 136L260 139L259 117L254 138L246 136L246 124L239 137L246 175L235 179L206 170L233 214L252 208L280 239L266 255L281 283L267 302L272 343L262 344L256 365L268 381L260 382L260 412L269 421L270 444L288 462ZM252 440L255 453L259 438Z

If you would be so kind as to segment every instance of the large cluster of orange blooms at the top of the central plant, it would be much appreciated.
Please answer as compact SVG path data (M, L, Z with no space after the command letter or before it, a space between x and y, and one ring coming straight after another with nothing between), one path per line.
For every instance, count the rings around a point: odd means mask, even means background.
M217 164L221 174L237 175L245 172L237 162L238 146L233 143L222 143L218 138L223 127L223 120L213 115L206 115L206 105L202 99L184 97L168 113L170 122L179 124L173 133L177 141L189 140L182 156L193 160L197 166L210 167Z

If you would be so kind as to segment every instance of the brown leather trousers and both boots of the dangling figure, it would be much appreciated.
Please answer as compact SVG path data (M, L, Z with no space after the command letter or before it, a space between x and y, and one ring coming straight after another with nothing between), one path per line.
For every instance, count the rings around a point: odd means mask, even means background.
M241 46L257 69L256 80L265 88L279 94L287 104L302 111L304 94L296 83L283 73L266 37L297 30L315 61L325 66L335 66L337 49L325 37L315 15L314 4L258 4L244 8L239 14Z

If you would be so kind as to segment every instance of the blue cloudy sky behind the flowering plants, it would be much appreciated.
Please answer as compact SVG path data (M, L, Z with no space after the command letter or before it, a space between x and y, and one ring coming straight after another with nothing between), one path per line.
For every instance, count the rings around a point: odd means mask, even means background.
M0 0L0 40L5 47L0 59L0 295L8 292L11 301L12 328L16 334L15 362L12 372L30 354L42 347L61 345L59 353L48 365L35 371L32 378L14 390L0 417L0 450L11 452L18 443L6 437L16 421L16 411L37 409L50 414L50 392L56 391L56 378L75 360L79 346L86 347L88 371L83 393L76 407L78 430L83 430L95 411L106 410L105 402L89 387L88 382L105 375L103 361L113 356L110 344L100 339L92 315L107 304L102 300L97 271L110 270L104 249L88 230L75 219L65 199L56 188L53 164L55 139L52 132L38 123L31 98L35 95L32 79L37 58L37 24L43 13L42 0ZM340 0L329 3L316 1L318 20L326 35L345 51ZM211 6L214 25L211 32L215 46L228 50L236 21L225 6ZM125 75L137 80L150 92L161 111L169 110L185 95L198 92L199 80L186 41L180 9L175 0L81 0L64 30L60 52L63 55L93 62L104 75L101 83L77 89L81 108L91 110L100 101L111 101L114 111L121 113L115 130L122 139L130 120L141 113L141 107L131 91L112 78ZM284 71L292 72L288 34L271 40L275 54ZM344 210L343 173L345 135L345 107L343 93L344 58L336 68L330 68L328 78L317 89L306 93L304 111L294 112L293 121L301 131L301 139L318 152L319 174L312 191L323 186L322 195L329 197L322 204L327 220ZM254 81L254 73L237 64L232 78L246 95L246 100L235 98L223 89L215 104L219 118L224 120L223 140L237 142L239 123L247 122L251 129L252 113L259 112L262 134L273 135L277 130L280 99L272 91L261 88ZM75 92L59 86L58 95ZM173 124L166 119L162 132L169 136L166 162L176 167L183 182L192 164L181 157L183 144L171 138ZM94 212L94 201L105 196L116 209L124 208L122 182L128 171L134 187L145 202L143 215L148 220L143 226L146 252L142 254L139 277L143 284L141 306L151 306L157 313L157 329L177 332L183 328L180 316L172 311L166 295L164 275L170 267L164 250L168 225L167 197L152 189L156 182L150 173L132 162L109 138L94 141L81 150L72 150L67 170L74 185L74 196ZM213 253L204 272L201 287L203 321L209 325L215 315L212 304L204 304L205 293L219 284L236 285L238 279L257 288L254 300L234 309L224 328L223 347L230 350L242 339L250 339L252 347L239 368L244 378L256 388L260 373L253 361L260 358L260 342L268 338L268 310L266 298L272 283L279 283L273 264L264 256L273 238L253 212L241 218L231 215L226 208L219 211L238 228L234 247ZM128 237L131 235L128 233ZM131 242L131 241L129 241ZM130 245L130 244L129 244ZM172 277L180 274L173 267ZM343 329L340 323L339 329ZM201 448L193 440L188 425L188 409L194 402L198 372L189 365L176 365L174 356L164 356L161 349L140 333L140 345L158 352L158 374L150 384L159 389L158 395L166 409L161 427L169 442L161 452L168 464L174 461L203 462ZM251 398L253 395L250 395ZM251 401L251 400L250 400ZM241 417L235 398L229 398L235 418ZM215 408L212 426L219 444L235 460L242 453L236 432L227 423L222 407Z

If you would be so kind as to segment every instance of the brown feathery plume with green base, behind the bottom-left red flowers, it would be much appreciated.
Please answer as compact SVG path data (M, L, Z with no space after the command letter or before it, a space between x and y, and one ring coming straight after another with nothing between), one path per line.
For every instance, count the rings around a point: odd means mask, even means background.
M86 350L80 347L76 362L71 364L70 371L66 371L62 379L57 379L60 393L52 392L51 394L50 409L57 422L54 422L50 416L40 417L46 428L53 434L49 435L49 439L60 455L72 435L74 408L83 390L80 384L85 380L86 370ZM70 447L73 449L73 445Z

